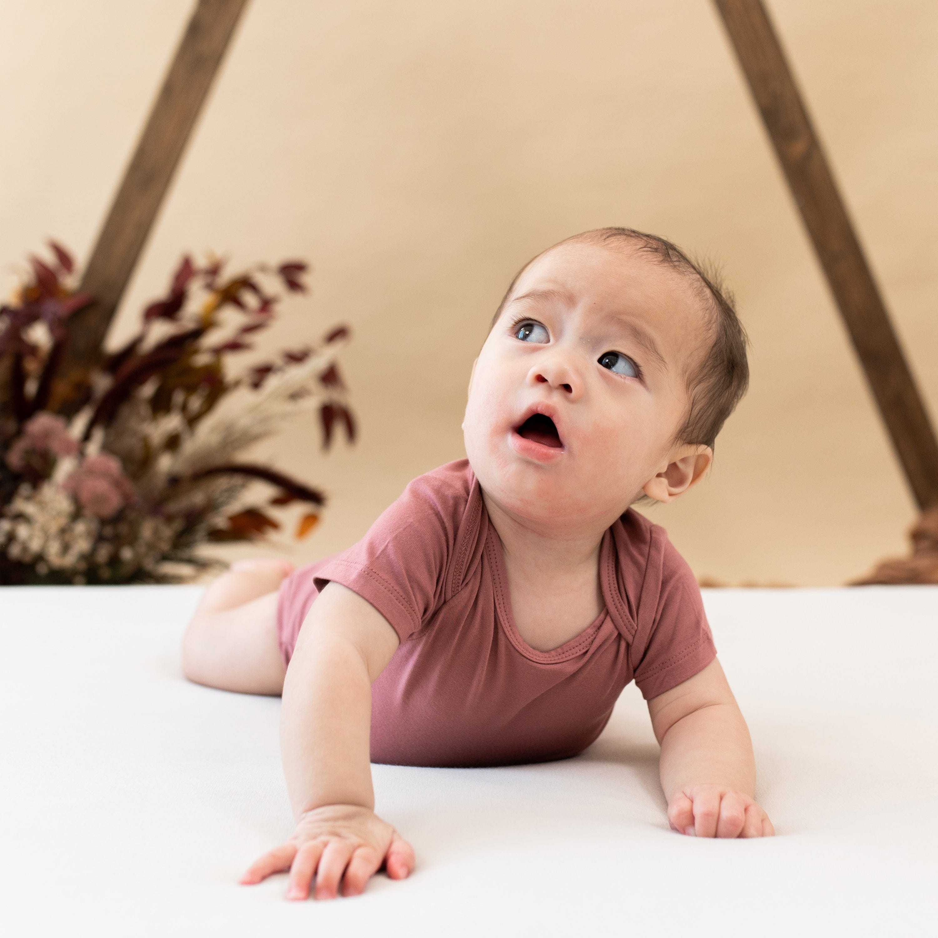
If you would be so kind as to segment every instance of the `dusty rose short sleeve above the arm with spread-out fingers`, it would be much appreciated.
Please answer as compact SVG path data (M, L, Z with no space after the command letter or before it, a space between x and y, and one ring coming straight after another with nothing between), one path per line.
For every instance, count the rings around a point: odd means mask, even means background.
M316 571L316 588L347 586L405 641L443 601L466 488L459 474L440 470L414 479L365 537Z

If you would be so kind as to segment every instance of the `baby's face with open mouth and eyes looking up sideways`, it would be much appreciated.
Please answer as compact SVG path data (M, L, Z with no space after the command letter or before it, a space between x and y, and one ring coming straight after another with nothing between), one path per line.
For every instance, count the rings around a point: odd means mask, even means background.
M660 497L658 474L704 448L673 445L703 325L688 281L639 251L569 242L537 258L469 386L462 429L483 491L564 527L606 527L643 491Z

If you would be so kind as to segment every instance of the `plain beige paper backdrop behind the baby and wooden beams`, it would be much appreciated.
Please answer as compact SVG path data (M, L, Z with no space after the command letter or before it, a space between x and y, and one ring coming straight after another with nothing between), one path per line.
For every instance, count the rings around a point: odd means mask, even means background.
M4 292L48 235L87 256L190 7L0 3ZM770 8L938 414L938 7ZM311 560L462 455L507 281L607 224L718 260L752 340L710 477L651 511L696 572L834 583L904 552L913 502L706 0L253 0L118 329L184 249L311 260L270 344L353 325L362 426L326 457L311 421L262 451L331 494Z

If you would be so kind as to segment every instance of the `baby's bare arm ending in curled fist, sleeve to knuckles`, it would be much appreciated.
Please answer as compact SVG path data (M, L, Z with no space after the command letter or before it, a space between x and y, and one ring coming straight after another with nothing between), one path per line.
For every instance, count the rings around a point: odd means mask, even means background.
M674 830L697 837L775 833L753 801L749 730L716 658L648 701L648 712L661 746L661 787Z

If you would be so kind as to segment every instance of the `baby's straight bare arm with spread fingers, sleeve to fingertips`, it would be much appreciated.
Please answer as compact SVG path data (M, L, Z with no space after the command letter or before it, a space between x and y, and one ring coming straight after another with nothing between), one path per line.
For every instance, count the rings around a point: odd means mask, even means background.
M283 681L280 749L297 819L293 837L262 856L241 882L290 870L288 899L360 893L386 865L414 867L410 844L374 813L371 682L398 647L397 632L365 599L327 583L300 628ZM346 869L347 868L347 869Z

